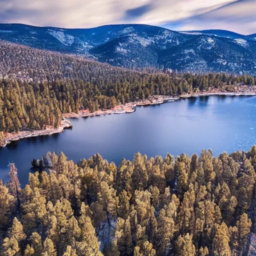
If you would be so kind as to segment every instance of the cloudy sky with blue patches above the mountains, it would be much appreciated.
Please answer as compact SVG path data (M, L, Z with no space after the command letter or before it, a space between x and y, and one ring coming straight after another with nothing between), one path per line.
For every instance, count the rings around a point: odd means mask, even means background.
M141 23L256 33L256 0L0 0L0 23L89 28Z

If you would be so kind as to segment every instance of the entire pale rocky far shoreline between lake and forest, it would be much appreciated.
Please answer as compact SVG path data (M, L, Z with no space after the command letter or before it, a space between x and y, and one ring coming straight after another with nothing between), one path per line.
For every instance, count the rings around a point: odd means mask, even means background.
M78 113L63 113L62 116L64 120L61 121L61 125L57 128L48 127L45 130L33 130L33 131L19 131L17 133L7 133L5 136L5 142L0 147L4 147L7 144L11 143L11 141L16 141L23 138L28 137L35 137L41 135L51 135L54 133L63 132L64 129L72 127L70 121L66 120L65 118L79 118L79 117L93 117L93 116L100 116L106 114L121 114L121 113L132 113L135 111L136 106L148 106L148 105L157 105L163 104L167 102L173 102L178 99L190 98L190 97L199 97L199 96L210 96L210 95L225 95L225 96L254 96L256 95L255 91L240 91L240 92L220 92L220 91L207 91L207 92L196 92L191 94L183 94L178 96L161 96L161 95L154 95L148 99L141 99L125 104L119 104L111 109L103 109L98 110L95 112L89 112L89 109L79 110Z

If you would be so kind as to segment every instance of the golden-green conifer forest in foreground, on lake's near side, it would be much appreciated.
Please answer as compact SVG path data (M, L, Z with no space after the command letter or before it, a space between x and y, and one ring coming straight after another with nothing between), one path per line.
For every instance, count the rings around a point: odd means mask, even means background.
M200 156L137 153L119 166L47 153L49 171L0 182L0 254L238 256L255 231L256 147Z

